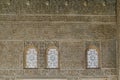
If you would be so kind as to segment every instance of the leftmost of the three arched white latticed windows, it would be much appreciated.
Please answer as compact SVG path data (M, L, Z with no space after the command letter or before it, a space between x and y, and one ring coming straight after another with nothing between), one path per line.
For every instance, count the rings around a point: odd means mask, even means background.
M37 68L37 51L34 48L27 51L26 68Z

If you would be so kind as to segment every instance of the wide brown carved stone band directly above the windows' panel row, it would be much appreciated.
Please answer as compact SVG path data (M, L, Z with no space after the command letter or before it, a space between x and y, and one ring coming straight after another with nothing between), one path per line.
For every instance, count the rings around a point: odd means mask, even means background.
M0 40L114 39L116 25L75 23L3 23Z

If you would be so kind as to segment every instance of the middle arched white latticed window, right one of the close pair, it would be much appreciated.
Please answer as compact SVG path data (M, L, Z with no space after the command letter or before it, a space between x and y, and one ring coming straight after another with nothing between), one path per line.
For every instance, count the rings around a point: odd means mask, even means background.
M49 49L47 55L47 68L58 68L58 51Z

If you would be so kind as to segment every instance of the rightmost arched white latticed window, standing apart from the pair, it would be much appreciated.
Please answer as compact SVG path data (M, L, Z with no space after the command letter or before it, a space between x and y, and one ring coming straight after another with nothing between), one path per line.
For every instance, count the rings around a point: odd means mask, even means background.
M87 52L87 68L98 68L98 52L96 49L89 49Z

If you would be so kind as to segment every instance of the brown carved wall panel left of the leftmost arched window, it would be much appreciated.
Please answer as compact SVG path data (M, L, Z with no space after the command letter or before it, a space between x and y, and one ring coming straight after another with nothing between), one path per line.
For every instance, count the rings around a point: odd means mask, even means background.
M20 55L23 54L23 42L0 41L0 68L19 69Z

